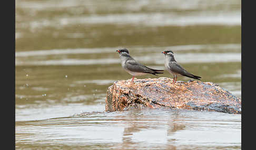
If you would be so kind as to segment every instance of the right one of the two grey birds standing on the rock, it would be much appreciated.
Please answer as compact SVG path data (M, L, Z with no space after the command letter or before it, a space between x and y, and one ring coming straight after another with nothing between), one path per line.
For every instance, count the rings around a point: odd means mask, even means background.
M195 75L189 73L183 67L181 67L181 65L179 65L179 63L177 63L177 61L174 59L173 51L166 50L166 51L162 51L162 53L164 53L164 55L165 55L164 56L165 57L164 58L165 59L164 66L165 66L166 70L168 70L168 72L173 75L173 83L174 83L175 76L176 76L175 83L177 80L177 76L185 76L185 77L200 80L201 77L195 76Z

